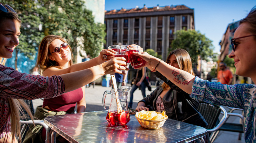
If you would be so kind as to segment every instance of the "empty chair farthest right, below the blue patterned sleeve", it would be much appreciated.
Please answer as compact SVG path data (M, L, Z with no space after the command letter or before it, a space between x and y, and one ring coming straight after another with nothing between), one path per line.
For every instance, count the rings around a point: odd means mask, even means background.
M227 107L227 106L226 106ZM238 110L238 111L244 111L243 109L239 108L232 108L232 107L227 107L229 109L229 112L227 112L227 119L231 116L234 117L239 117L242 121L244 121L244 117L242 114L239 113L233 113L233 111ZM221 113L223 114L223 113ZM241 140L242 133L245 133L245 127L244 123L231 123L227 122L228 120L225 121L225 123L221 126L221 128L213 133L213 140L217 137L217 135L220 133L220 131L229 131L229 132L238 132L238 140Z

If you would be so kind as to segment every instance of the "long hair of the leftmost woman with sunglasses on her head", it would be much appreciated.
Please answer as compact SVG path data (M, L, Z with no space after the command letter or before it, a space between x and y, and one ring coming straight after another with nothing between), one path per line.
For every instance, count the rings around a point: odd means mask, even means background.
M21 20L18 18L18 15L14 12L0 12L0 27L2 25L3 22L5 22L6 20L12 20L12 21L17 21L19 22L19 24L21 24ZM6 58L2 58L0 57L0 63L2 65L5 64L6 62ZM33 120L33 115L29 109L29 106L21 99L13 99L13 98L8 98L7 99L8 103L9 103L9 107L10 107L10 119L11 119L11 141L13 142L15 135L20 136L20 118L21 115L20 113L24 112L22 110L22 107L28 112L29 116L31 117L31 119ZM7 135L5 136L4 140L8 140L9 138L9 134L8 134L8 126L9 126L10 122L8 121L6 123L6 132Z

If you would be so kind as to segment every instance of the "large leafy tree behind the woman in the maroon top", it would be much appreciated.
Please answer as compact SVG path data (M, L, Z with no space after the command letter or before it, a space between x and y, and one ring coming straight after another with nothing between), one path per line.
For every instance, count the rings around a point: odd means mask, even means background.
M78 46L91 57L98 56L103 49L105 27L94 22L92 12L84 7L82 0L41 0L40 3L45 35L65 38L74 56L77 55Z

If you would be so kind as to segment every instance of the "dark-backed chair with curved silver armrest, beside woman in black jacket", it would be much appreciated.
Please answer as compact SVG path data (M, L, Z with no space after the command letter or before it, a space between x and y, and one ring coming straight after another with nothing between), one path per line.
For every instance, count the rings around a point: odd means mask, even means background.
M212 143L214 138L213 135L211 135L211 133L218 131L221 128L221 126L225 123L227 119L227 112L220 105L209 104L204 102L200 102L198 111L202 114L203 118L208 123L206 127L207 140L208 142ZM223 112L223 117L219 122L217 122L221 114L221 111Z

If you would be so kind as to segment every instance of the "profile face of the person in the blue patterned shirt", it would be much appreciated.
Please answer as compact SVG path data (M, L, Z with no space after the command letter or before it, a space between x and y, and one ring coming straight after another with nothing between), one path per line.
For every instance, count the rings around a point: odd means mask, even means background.
M248 27L250 27L248 23L240 24L234 33L234 38L251 35L252 33L248 30ZM236 74L256 79L256 37L237 39L235 44L235 51L232 51L228 57L234 59Z

